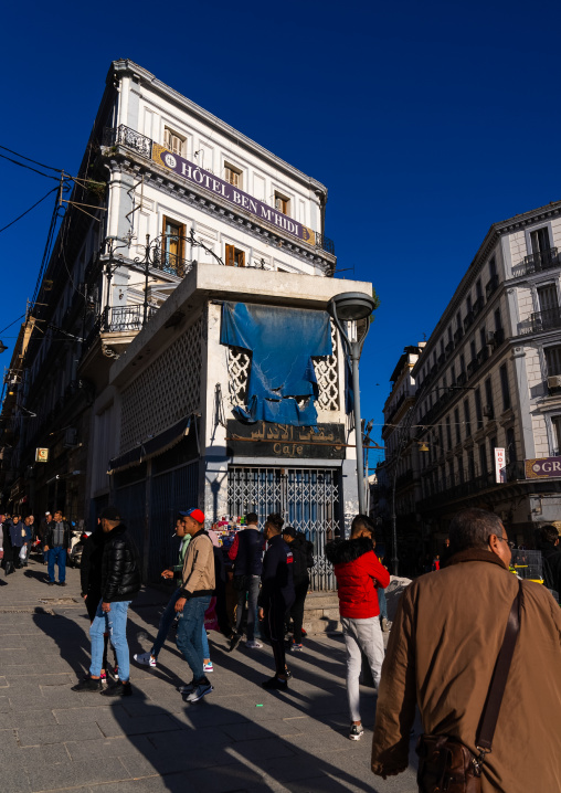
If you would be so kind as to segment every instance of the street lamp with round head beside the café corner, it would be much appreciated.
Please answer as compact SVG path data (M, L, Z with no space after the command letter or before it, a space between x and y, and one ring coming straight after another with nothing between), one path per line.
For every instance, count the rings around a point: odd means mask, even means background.
M359 385L359 360L364 339L370 330L369 317L375 308L374 299L361 292L343 292L331 297L327 310L332 317L341 336L347 355L351 359L352 390L354 392L354 433L357 435L357 482L359 491L359 512L364 515L364 464L362 459L362 423L360 419L360 385ZM361 328L361 335L357 340L351 341L341 323L358 323L366 319Z

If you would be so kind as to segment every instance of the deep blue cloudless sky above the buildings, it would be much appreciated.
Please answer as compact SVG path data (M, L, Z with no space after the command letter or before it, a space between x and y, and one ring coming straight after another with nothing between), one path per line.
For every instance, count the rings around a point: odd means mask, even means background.
M110 61L129 57L327 184L326 233L338 267L354 268L341 276L371 281L382 300L361 362L362 411L379 438L403 347L430 336L489 225L561 198L561 6L176 10L4 9L0 145L76 172ZM6 160L0 178L0 228L54 184ZM0 330L33 294L51 212L49 199L0 233Z

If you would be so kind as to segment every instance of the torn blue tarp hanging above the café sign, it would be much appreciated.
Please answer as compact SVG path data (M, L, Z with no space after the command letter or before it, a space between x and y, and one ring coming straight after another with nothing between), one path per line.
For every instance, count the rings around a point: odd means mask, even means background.
M239 419L317 424L311 357L332 355L327 311L224 303L220 341L252 353L247 408L235 409ZM301 408L296 396L307 399Z

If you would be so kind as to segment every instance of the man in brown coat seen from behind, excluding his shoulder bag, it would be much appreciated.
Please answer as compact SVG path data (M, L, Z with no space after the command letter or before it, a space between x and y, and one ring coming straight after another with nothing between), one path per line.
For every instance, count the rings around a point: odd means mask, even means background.
M459 512L444 570L403 593L382 667L372 771L407 768L419 706L423 731L476 751L476 733L518 581L499 518ZM561 791L561 612L547 589L522 583L520 632L500 708L483 793Z

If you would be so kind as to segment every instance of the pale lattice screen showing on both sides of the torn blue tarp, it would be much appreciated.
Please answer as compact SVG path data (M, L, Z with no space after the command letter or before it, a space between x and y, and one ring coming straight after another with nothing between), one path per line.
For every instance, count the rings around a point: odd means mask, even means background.
M339 376L337 331L331 323L331 341L334 355L313 358L319 395L317 408L319 410L339 410ZM227 348L229 391L232 406L245 408L247 404L247 381L250 378L251 356L240 347ZM298 400L304 403L306 400Z

